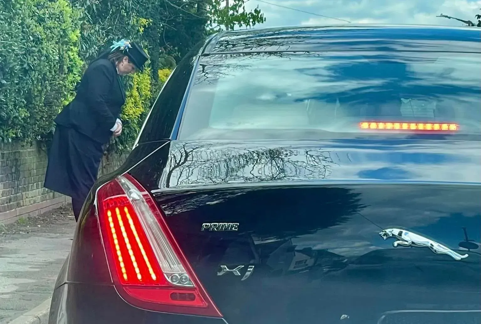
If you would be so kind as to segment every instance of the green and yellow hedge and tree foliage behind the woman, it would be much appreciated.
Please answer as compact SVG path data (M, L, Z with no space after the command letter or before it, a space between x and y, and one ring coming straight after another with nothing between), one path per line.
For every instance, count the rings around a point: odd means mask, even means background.
M246 0L0 0L0 140L48 138L86 63L121 38L139 41L149 67L126 78L126 149L166 76L196 43L225 27L265 21Z

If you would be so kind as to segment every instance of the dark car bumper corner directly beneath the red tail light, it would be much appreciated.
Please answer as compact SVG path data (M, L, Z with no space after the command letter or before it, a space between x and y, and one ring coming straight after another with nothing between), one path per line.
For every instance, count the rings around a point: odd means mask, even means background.
M53 292L49 324L226 324L221 318L141 310L114 286L63 284Z

